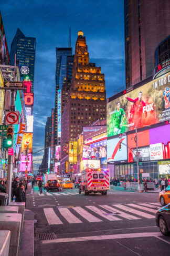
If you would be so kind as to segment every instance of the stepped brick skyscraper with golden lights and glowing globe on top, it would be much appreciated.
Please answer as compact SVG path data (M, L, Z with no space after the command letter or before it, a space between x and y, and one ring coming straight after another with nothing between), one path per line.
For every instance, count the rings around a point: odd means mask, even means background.
M61 145L75 141L83 126L106 116L104 74L101 67L89 63L88 46L83 32L78 32L72 68L71 87L61 116ZM61 149L61 164L67 160ZM61 169L65 169L61 166Z

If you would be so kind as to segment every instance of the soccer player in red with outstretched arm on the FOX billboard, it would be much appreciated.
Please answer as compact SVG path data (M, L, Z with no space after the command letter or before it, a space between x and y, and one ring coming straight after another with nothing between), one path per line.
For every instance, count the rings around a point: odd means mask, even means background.
M125 98L127 101L133 102L135 104L134 108L134 126L140 127L141 126L141 120L142 120L142 114L143 114L143 107L146 106L146 103L142 100L142 92L139 92L139 95L136 99L131 99L125 95ZM145 112L146 117L146 112Z

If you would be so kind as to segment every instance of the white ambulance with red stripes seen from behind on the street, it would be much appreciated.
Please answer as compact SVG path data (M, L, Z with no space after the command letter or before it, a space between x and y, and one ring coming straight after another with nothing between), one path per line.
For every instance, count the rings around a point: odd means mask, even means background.
M83 192L84 195L89 195L90 193L99 192L102 195L107 195L108 190L110 190L109 181L108 169L87 168L81 173L79 194Z

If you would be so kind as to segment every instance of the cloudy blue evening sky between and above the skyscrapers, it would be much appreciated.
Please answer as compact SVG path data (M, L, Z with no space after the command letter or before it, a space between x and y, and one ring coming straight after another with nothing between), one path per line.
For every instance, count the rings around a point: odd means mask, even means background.
M69 26L73 53L78 31L84 32L90 62L105 74L107 97L125 86L123 0L1 0L0 11L9 51L17 27L36 37L34 152L44 147L47 116L55 105L55 47L68 46ZM35 170L42 155L34 157Z

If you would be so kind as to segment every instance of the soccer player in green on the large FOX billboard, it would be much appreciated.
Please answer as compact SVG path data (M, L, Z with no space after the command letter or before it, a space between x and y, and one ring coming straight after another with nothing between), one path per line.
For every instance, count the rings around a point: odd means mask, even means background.
M117 109L113 114L113 131L114 135L121 133L121 127L125 120L125 113L124 110L121 109L120 102L117 103Z

